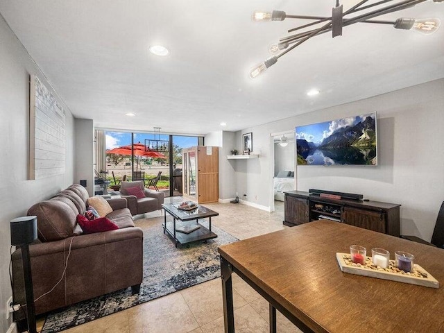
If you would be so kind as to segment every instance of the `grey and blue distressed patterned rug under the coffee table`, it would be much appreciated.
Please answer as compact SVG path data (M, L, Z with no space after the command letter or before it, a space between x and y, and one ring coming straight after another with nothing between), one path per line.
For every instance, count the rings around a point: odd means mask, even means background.
M176 248L163 233L162 222L163 217L135 221L144 230L144 280L139 294L131 295L128 287L53 311L42 333L60 332L221 276L217 248L237 238L212 225L217 238ZM199 222L208 224L207 220Z

